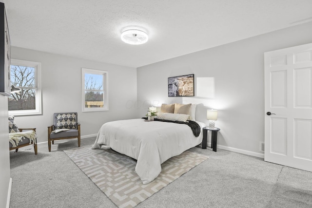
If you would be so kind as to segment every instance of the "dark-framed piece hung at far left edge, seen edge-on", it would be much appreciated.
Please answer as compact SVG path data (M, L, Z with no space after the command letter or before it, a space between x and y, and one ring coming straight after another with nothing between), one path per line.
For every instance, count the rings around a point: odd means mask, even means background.
M0 2L0 94L10 96L10 37L4 3Z

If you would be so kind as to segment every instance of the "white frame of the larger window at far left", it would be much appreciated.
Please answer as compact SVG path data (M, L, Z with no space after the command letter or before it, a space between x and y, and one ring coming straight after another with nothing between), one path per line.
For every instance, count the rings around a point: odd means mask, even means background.
M15 86L17 88L30 88L35 89L35 106L36 109L34 110L14 110L9 111L9 115L41 115L42 114L42 98L41 98L41 63L36 61L26 61L20 59L11 59L10 65L17 65L17 66L26 66L26 67L33 67L35 68L35 87L22 87L22 86ZM10 67L11 70L11 67ZM10 83L11 84L11 83Z

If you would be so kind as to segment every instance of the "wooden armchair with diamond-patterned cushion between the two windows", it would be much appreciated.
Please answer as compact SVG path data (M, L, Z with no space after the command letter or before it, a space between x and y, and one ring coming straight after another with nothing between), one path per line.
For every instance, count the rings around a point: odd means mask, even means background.
M78 138L80 147L80 124L78 114L75 113L54 113L54 123L48 127L48 148L51 151L51 142L55 140Z

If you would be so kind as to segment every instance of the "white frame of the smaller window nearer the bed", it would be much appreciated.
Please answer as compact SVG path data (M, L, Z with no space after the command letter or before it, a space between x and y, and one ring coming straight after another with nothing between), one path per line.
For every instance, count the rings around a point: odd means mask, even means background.
M85 74L103 75L103 107L86 108L85 107ZM108 111L108 71L98 69L81 68L81 94L82 94L82 112Z

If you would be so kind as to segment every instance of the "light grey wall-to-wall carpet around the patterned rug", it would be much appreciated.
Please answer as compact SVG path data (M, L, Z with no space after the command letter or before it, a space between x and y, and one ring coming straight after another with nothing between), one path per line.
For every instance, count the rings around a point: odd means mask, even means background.
M81 139L81 147L94 141ZM76 148L77 140L55 143L51 152L47 143L39 144L38 155L33 149L10 152L10 208L116 208L64 153ZM136 208L312 207L312 172L220 149L189 151L209 159Z

